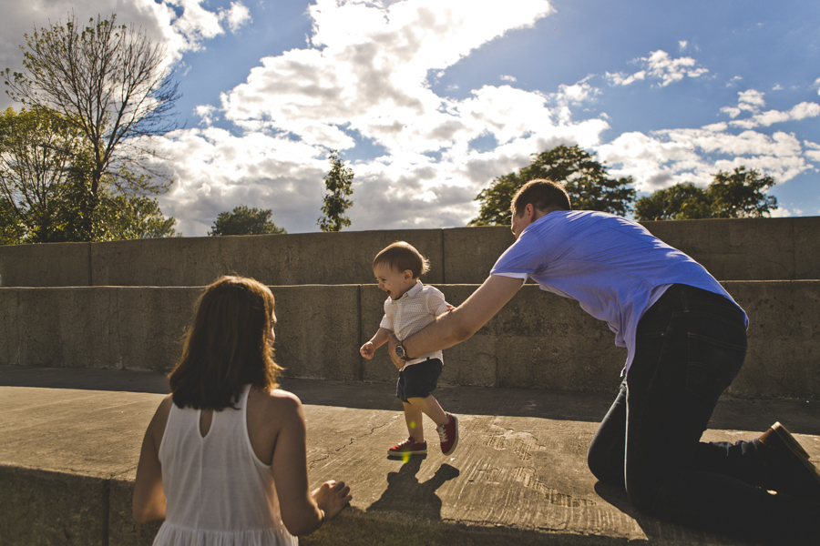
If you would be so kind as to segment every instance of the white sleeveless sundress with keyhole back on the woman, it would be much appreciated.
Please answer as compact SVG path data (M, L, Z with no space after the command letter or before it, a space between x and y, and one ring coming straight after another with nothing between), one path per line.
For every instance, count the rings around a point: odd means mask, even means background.
M171 406L159 445L165 522L154 546L295 546L285 529L270 465L248 436L248 393L238 410L213 412L200 434L200 410Z

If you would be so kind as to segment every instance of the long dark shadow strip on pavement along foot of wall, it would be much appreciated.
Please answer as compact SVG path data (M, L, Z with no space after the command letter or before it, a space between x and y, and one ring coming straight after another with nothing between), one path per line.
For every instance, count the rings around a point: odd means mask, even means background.
M86 389L168 394L165 374L147 370L69 369L0 366L0 386ZM563 392L492 387L439 387L436 399L447 411L550 420L599 422L615 399L607 392ZM401 411L393 383L282 378L302 403L359 410ZM794 399L721 399L709 428L763 432L774 421L797 434L820 435L820 402Z

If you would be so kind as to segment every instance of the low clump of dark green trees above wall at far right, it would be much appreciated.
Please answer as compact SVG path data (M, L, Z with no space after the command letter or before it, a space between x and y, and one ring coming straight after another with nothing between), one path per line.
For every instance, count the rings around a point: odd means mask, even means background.
M777 198L765 191L774 184L773 177L756 169L719 171L709 187L682 183L641 197L635 204L635 217L640 221L768 217L777 208Z

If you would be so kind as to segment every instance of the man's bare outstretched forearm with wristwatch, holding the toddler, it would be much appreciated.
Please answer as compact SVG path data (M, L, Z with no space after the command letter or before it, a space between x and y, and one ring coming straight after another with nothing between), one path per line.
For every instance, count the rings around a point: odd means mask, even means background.
M507 305L507 301L516 295L518 288L523 284L524 280L521 278L490 275L460 306L438 317L435 322L431 322L409 338L403 339L402 346L407 355L411 358L425 355L470 339ZM394 359L394 362L401 362L401 359L395 356L398 339L392 334L388 339L390 358Z

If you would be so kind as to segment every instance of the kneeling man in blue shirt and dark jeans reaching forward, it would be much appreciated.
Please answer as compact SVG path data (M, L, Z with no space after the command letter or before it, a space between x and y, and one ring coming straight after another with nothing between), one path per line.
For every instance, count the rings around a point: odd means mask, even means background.
M780 543L820 536L820 472L779 423L754 440L702 442L746 352L748 319L705 268L630 220L572 211L563 187L532 180L513 198L516 236L490 276L391 358L452 347L532 278L579 301L627 348L618 397L589 446L589 469L658 518ZM773 495L769 490L777 491Z

